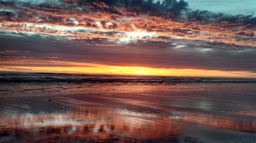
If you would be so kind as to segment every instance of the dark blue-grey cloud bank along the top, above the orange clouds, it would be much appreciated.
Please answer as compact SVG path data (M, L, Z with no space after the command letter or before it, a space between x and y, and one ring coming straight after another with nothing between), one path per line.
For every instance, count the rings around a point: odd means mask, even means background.
M225 13L214 13L207 10L192 10L189 7L189 2L183 0L164 0L156 3L153 0L59 0L59 1L2 1L2 5L26 4L37 5L37 8L42 8L44 11L57 12L59 10L76 10L77 6L83 11L107 11L118 15L125 15L119 9L123 8L126 11L134 12L136 15L149 14L151 16L160 16L171 18L173 20L190 20L200 22L230 22L242 23L255 26L256 18L252 15L228 15ZM203 8L202 8L203 9ZM9 15L10 13L6 13Z

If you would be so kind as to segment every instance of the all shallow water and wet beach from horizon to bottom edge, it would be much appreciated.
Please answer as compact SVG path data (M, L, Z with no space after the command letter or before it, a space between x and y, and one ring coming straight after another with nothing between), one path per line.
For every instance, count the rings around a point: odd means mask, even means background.
M256 141L252 80L107 77L103 81L105 76L91 76L81 82L74 76L75 81L57 81L66 79L59 75L53 75L53 81L49 81L52 75L11 76L16 78L1 81L0 142ZM38 80L45 76L48 81Z

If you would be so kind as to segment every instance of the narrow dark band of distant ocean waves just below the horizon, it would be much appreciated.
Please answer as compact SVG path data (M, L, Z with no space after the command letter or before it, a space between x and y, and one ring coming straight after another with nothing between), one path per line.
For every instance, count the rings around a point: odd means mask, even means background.
M56 73L0 73L0 82L80 82L80 83L256 83L256 78L129 76Z

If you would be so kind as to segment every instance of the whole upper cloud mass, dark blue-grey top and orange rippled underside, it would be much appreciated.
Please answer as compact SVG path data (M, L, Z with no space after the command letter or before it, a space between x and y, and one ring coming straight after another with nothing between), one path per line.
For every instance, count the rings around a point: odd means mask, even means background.
M252 16L192 11L184 1L41 1L38 5L27 2L0 2L1 31L67 35L77 40L105 38L119 44L137 40L176 42L180 38L183 41L179 42L198 42L199 46L213 48L256 46ZM156 8L158 11L154 11ZM111 12L113 9L118 13ZM156 36L122 34L138 30Z

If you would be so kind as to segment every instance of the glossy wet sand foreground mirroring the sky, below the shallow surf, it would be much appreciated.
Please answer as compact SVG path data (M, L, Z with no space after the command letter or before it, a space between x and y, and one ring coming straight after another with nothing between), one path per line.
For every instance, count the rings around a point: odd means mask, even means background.
M215 86L193 92L3 96L0 141L255 142L254 95L244 91L244 97L231 99L240 94L225 85L215 94ZM236 106L239 102L246 104Z

